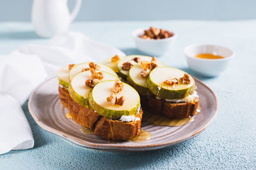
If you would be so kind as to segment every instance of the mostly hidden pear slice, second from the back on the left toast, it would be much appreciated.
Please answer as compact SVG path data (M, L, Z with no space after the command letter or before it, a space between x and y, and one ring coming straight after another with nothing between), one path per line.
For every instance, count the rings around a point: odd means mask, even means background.
M89 63L90 62L80 63L78 65L73 66L69 72L69 81L72 81L73 77L75 75L77 75L77 73L82 72L83 68L89 68ZM115 75L116 77L118 77L118 75L108 66L102 65L100 63L95 63L95 64L100 66L100 68L99 68L100 71L108 72L108 73L111 73L111 74Z

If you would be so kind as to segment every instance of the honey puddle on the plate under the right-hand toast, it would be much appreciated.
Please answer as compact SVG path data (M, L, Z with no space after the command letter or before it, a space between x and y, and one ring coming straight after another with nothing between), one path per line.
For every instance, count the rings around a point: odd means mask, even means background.
M143 114L143 120L155 126L179 127L194 121L194 117L169 119L161 115L147 112L146 114Z

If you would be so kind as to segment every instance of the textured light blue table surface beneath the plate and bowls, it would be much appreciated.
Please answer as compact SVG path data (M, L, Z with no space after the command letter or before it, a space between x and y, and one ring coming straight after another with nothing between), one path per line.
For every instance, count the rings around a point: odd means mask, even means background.
M159 58L161 61L195 75L216 93L218 114L202 134L156 151L89 150L40 128L29 114L26 102L22 108L31 125L35 147L0 155L0 169L256 169L256 20L76 22L70 30L113 45L126 54L141 54L131 32L148 26L171 29L178 34L175 48ZM0 23L0 54L8 54L27 43L47 41L38 38L28 22ZM183 54L184 47L193 43L225 45L236 56L220 76L200 77L188 69Z

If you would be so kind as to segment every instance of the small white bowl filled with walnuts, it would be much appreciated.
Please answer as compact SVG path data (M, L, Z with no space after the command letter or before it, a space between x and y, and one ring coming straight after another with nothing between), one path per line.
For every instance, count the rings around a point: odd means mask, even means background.
M143 35L145 29L136 29L132 32L132 36L136 43L136 46L141 52L144 52L150 56L162 56L170 49L176 39L176 34L169 38L163 38L159 40L147 40L144 38L140 38L140 35ZM172 31L171 31L172 32ZM172 32L173 33L173 32Z

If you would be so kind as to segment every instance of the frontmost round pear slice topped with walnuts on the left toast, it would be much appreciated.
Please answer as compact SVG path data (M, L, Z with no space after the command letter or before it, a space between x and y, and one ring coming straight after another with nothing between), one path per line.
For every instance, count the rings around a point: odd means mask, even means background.
M124 115L138 114L138 111L140 111L140 95L129 84L124 82L123 84L123 90L115 94L118 98L124 97L123 105L109 104L106 98L113 93L115 81L102 81L92 89L89 95L90 107L102 116L112 119L119 119Z

